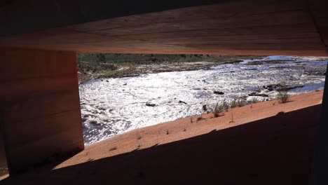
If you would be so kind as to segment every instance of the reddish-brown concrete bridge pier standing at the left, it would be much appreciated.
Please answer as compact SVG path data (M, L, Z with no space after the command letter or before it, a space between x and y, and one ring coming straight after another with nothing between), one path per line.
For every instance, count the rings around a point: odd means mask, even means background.
M0 48L0 111L10 173L83 146L74 52Z

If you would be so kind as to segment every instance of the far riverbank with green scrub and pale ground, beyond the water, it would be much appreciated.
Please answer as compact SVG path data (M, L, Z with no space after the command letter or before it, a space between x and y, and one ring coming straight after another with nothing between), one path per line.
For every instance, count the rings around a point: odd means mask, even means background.
M168 71L209 69L219 64L262 57L264 56L78 54L78 82L83 83L94 78L121 78Z

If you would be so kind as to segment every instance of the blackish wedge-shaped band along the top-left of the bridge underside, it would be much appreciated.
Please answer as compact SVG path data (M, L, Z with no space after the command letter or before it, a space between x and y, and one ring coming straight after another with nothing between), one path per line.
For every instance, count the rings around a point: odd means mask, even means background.
M151 0L1 0L0 20L3 22L3 25L10 26L1 27L0 36L23 34L52 27L62 27L110 18L120 18L135 14L153 13L190 6L224 4L233 1L235 0L165 0L156 2ZM60 9L58 9L58 7L60 7ZM38 18L39 16L42 18ZM47 17L47 19L44 20L43 17ZM15 24L12 24L12 22L15 22Z

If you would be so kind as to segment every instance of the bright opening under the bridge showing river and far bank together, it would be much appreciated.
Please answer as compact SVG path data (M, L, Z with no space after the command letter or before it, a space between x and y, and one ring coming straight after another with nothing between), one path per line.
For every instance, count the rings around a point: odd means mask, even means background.
M275 100L279 93L284 99L322 90L328 58L85 53L77 61L88 146L158 123Z

